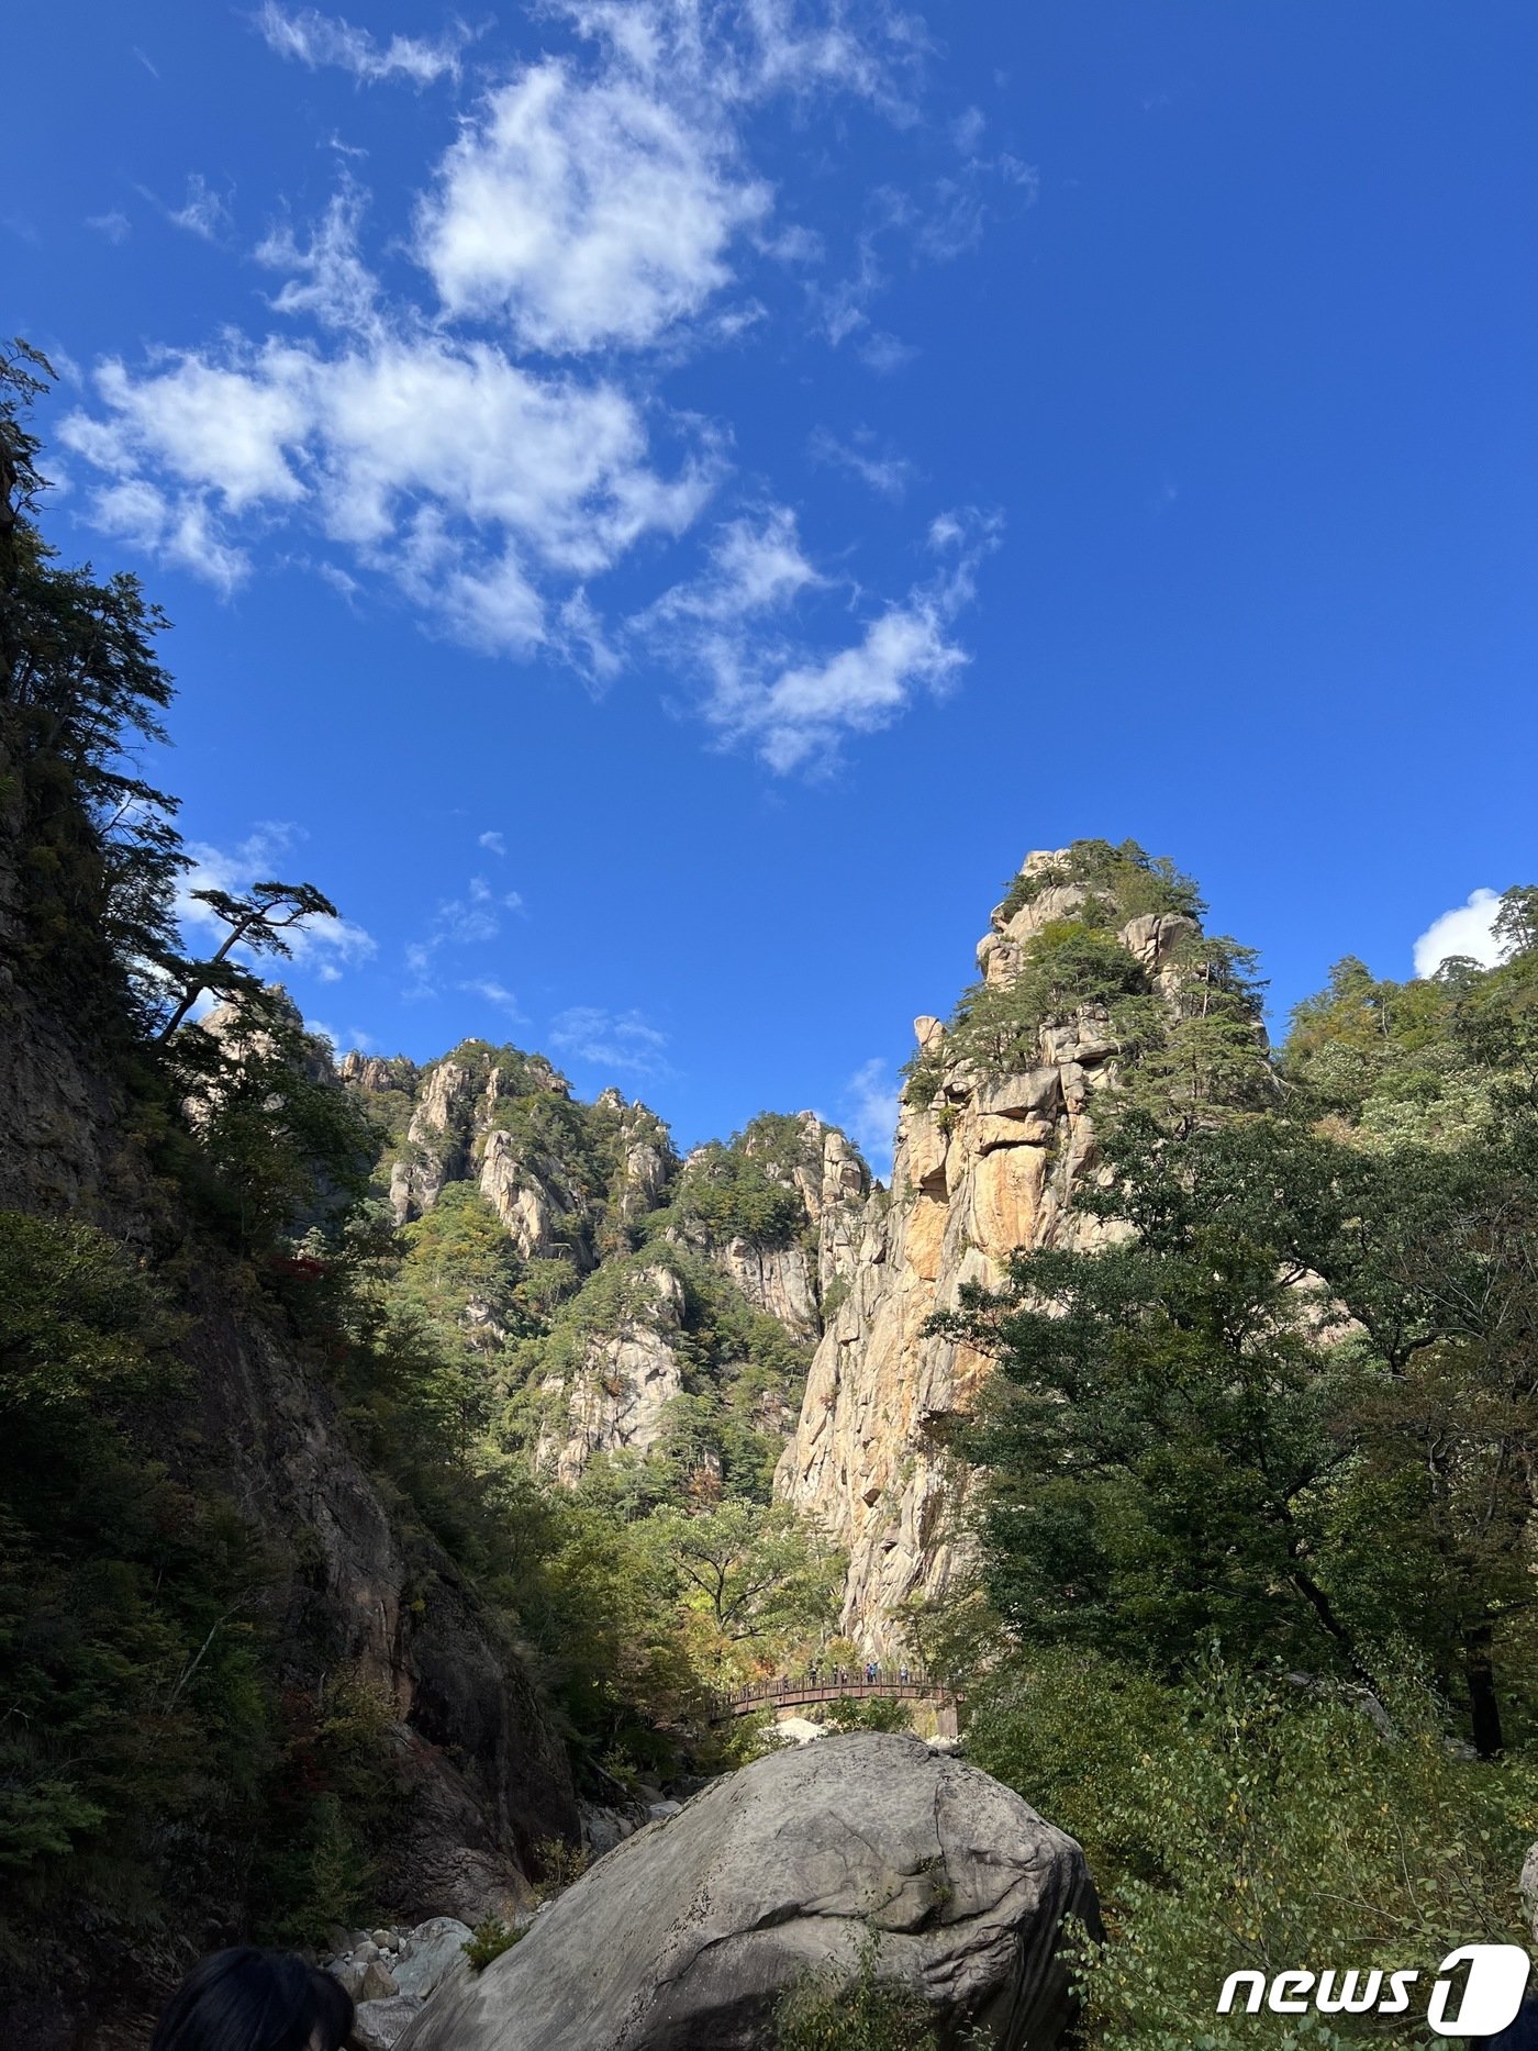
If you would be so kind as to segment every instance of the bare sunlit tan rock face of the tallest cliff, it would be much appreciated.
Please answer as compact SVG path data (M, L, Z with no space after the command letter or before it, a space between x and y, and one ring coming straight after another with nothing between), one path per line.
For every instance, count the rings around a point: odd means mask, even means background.
M1029 855L1023 874L1062 859ZM1013 982L1029 937L1083 898L1081 884L1058 884L1009 917L1001 907L978 943L984 982ZM1167 991L1171 954L1189 931L1189 919L1161 913L1132 919L1120 937ZM954 1575L966 1475L949 1438L990 1372L925 1323L956 1306L964 1284L997 1286L1017 1247L1105 1237L1072 1198L1097 1171L1093 1105L1116 1081L1116 1040L1097 1007L1042 1028L1036 1060L1009 1075L947 1062L933 1017L915 1019L915 1034L939 1087L925 1108L902 1103L890 1200L865 1206L853 1282L812 1360L777 1473L777 1493L849 1549L845 1628L882 1655L902 1647L900 1604L939 1594Z

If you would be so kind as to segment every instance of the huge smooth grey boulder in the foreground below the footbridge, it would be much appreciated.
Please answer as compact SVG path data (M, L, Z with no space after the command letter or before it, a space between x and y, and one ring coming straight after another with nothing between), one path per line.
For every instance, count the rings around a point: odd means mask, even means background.
M808 1973L917 1989L945 2043L1050 2051L1062 1918L1097 1926L1072 1838L917 1737L849 1733L714 1780L599 1860L400 2051L751 2051Z

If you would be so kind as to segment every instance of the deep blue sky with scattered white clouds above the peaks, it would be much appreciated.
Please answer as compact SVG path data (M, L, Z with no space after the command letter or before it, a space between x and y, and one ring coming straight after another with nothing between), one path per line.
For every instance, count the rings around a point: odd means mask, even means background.
M1538 876L1528 0L64 0L10 64L55 535L176 621L205 872L340 904L340 1044L880 1147L1029 847L1175 855L1282 1017Z

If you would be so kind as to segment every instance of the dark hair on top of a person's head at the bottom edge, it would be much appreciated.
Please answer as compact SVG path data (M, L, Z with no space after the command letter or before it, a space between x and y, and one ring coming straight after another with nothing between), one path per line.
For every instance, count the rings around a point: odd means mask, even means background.
M176 1987L150 2051L342 2051L353 1996L291 1951L215 1951Z

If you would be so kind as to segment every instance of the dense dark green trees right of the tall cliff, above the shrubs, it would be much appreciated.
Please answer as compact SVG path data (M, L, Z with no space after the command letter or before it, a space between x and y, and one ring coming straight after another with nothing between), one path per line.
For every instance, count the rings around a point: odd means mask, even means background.
M1003 1366L974 1446L993 1602L1171 1676L1216 1641L1372 1680L1413 1645L1499 1750L1534 1600L1532 1142L1128 1120L1109 1161L1085 1206L1132 1239L1021 1255L943 1321Z

